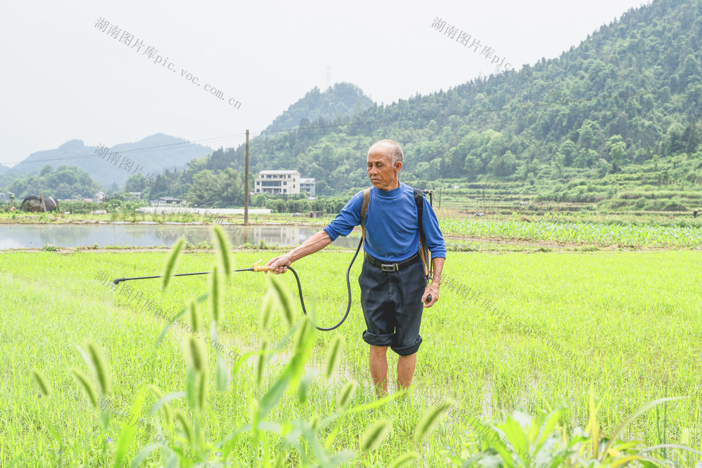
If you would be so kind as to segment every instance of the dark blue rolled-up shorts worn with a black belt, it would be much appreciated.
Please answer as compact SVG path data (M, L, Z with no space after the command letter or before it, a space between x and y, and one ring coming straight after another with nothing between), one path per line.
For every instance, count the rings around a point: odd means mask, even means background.
M397 272L383 272L363 261L361 307L366 320L363 340L373 346L388 346L400 356L409 356L422 344L422 295L427 286L421 260Z

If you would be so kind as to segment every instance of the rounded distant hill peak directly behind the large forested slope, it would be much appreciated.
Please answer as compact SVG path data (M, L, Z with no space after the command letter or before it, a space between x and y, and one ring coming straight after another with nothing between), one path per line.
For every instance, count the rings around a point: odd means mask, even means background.
M334 121L353 114L359 114L373 105L373 100L366 96L361 88L351 83L335 83L323 93L315 86L305 97L277 116L263 131L293 130L300 126L309 126L310 122Z

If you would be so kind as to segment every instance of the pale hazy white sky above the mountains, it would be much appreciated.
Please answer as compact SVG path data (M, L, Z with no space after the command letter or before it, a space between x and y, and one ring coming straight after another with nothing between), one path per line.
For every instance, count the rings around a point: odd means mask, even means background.
M247 128L256 135L311 88L325 88L328 66L332 82L355 83L386 104L496 71L458 36L432 29L436 17L518 69L649 3L0 1L6 166L73 139L109 147L161 132L236 147ZM117 39L95 27L100 18L119 28ZM147 47L157 50L151 59Z

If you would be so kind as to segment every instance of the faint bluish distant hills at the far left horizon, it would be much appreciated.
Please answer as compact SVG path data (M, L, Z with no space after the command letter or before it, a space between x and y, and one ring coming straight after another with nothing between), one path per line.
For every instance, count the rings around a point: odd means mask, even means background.
M148 173L159 175L166 170L185 168L192 159L212 152L211 148L193 145L187 140L163 133L151 135L138 142L120 143L110 147L110 152L116 153L112 155L114 157L111 162L107 161L107 156L111 154L102 157L95 154L96 149L98 147L84 145L82 140L70 140L56 149L30 154L27 159L5 171L3 180L8 183L13 173L18 176L21 173L39 173L47 165L53 168L65 165L83 169L104 187L113 183L124 185L133 173L138 173L139 166L144 176Z

